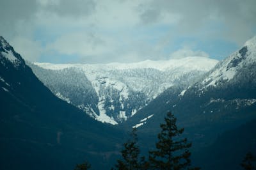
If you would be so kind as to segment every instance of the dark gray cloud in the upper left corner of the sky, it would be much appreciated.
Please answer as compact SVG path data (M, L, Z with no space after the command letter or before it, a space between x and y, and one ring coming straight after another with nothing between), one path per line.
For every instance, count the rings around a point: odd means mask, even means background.
M33 31L38 13L60 17L86 17L95 10L93 0L0 0L0 31L9 39ZM48 15L49 16L49 15Z

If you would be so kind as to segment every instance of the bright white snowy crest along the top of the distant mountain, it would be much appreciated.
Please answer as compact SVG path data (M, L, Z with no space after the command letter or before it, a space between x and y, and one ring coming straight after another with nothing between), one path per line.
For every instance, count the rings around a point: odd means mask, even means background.
M108 63L108 64L52 64L52 63L34 63L45 69L61 70L69 67L86 68L89 70L125 70L136 68L154 68L160 71L174 70L184 68L189 70L208 71L218 60L204 57L187 57L181 59L169 60L145 60L138 63Z

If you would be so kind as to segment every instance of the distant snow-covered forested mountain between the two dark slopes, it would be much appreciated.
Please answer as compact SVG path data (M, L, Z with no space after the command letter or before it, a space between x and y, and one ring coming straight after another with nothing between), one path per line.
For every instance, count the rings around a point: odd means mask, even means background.
M57 97L96 120L116 125L165 89L193 84L216 63L215 59L188 57L139 63L29 65Z

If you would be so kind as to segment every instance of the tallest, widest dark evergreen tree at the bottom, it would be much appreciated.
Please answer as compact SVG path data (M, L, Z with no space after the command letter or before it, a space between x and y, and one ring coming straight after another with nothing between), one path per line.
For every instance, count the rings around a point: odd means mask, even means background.
M176 118L171 112L164 118L165 123L161 124L161 132L158 134L156 150L149 151L149 162L152 169L192 169L190 168L191 143L186 138L180 139L184 128L177 128ZM199 168L193 168L199 169Z

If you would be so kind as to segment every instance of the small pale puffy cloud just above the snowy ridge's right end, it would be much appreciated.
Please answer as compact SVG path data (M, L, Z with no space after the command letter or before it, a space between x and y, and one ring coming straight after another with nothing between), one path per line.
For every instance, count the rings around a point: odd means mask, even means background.
M179 58L186 58L186 57L209 58L209 54L200 50L191 50L188 47L184 47L182 49L176 50L175 52L170 54L170 58L172 59L179 59Z

